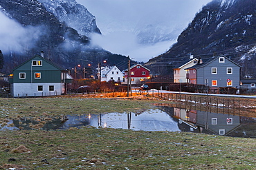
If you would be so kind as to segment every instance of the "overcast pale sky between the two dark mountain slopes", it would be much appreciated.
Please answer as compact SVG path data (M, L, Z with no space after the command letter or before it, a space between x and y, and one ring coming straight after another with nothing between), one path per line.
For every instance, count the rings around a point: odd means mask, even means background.
M77 0L96 18L102 36L92 36L93 44L110 52L148 61L163 54L176 42L196 12L212 0ZM155 44L138 43L136 32L147 25L161 27L174 39Z

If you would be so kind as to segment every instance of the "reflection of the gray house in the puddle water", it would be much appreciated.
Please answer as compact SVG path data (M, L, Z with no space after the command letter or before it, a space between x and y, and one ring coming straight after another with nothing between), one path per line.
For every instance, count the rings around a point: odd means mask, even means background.
M205 134L227 135L241 124L239 116L197 111L196 125Z

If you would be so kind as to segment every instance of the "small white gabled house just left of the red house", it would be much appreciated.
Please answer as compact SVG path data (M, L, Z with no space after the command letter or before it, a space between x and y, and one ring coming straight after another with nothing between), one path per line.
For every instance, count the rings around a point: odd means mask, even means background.
M122 72L118 69L118 67L102 67L101 69L101 81L122 81Z

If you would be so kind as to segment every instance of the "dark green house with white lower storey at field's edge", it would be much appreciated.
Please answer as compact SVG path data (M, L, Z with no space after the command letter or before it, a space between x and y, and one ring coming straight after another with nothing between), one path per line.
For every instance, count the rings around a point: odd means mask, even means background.
M41 53L12 70L10 92L13 97L66 94L67 84L72 80L66 70L44 59Z

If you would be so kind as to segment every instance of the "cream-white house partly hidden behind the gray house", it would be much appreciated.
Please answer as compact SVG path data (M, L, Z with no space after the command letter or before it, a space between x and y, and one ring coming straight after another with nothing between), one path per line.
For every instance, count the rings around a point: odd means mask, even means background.
M183 63L181 66L174 68L174 83L186 83L186 68L196 65L198 59L191 59L190 61Z

